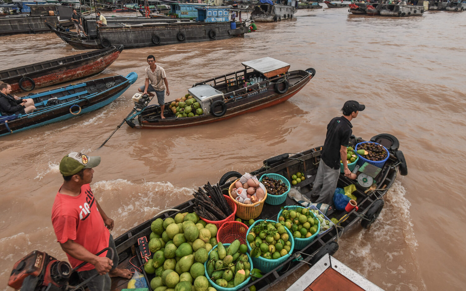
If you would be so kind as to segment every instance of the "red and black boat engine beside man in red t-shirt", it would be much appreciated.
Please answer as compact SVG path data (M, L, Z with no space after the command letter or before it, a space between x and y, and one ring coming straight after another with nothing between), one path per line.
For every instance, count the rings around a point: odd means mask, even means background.
M49 256L34 250L14 264L8 285L21 291L65 291L70 290L68 280L72 268Z

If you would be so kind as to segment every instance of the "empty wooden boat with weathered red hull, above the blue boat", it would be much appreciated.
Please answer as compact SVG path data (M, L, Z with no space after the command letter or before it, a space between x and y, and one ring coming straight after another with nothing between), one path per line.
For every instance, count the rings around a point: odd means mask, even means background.
M82 79L102 72L117 59L122 50L123 46L112 46L5 69L0 71L0 81L10 84L12 92L20 92Z

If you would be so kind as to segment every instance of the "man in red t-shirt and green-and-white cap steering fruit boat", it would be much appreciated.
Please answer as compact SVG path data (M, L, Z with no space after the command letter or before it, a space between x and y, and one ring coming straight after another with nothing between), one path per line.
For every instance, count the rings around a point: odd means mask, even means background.
M90 291L110 291L110 277L131 278L129 270L116 268L118 254L109 229L113 220L100 207L89 183L100 157L88 157L81 152L72 152L60 162L63 185L55 196L52 207L52 224L62 249L74 268L87 262L78 270L81 280L99 274L88 283ZM103 252L110 247L114 250L113 261ZM110 254L108 254L110 256Z

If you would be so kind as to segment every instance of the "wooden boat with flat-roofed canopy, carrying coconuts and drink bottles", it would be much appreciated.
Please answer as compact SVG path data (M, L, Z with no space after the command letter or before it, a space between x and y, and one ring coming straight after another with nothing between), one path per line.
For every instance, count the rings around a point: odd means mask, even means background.
M147 106L148 97L133 99L136 106L126 123L134 128L158 129L232 118L288 100L315 75L312 68L288 71L288 63L271 57L242 64L244 69L195 83L185 97L166 103L164 119L160 106Z

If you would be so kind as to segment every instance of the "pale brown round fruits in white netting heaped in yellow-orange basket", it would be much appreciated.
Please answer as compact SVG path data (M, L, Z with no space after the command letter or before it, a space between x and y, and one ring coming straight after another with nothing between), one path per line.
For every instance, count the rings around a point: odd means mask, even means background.
M236 181L230 192L233 199L243 204L254 204L264 199L267 190L256 176L246 173Z

